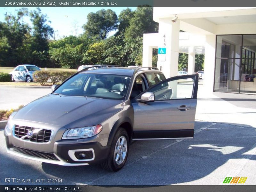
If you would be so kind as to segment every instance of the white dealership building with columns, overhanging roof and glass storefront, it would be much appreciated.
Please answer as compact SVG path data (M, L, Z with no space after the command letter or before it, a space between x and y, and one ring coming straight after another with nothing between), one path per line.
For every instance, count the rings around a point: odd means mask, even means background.
M153 17L159 32L143 36L143 66L158 48L157 67L177 76L184 52L193 74L195 55L204 54L204 90L256 94L255 7L154 7Z

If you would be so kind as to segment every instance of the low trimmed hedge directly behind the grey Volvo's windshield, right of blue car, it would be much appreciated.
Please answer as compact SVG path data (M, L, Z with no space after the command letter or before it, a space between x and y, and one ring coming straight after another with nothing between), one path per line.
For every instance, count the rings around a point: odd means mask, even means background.
M41 85L45 85L47 82L52 82L52 84L58 84L65 81L68 77L72 76L76 72L71 71L36 71L33 74L34 82Z

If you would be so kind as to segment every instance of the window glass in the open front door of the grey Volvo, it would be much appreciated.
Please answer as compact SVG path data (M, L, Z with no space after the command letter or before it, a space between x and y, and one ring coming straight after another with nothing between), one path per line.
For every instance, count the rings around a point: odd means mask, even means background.
M149 88L155 94L155 100L191 99L194 88L193 78L170 80Z

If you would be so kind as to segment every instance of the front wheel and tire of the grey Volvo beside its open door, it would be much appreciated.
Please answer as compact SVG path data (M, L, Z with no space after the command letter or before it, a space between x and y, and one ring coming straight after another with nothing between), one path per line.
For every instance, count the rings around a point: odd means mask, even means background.
M110 146L108 158L101 164L102 168L111 172L119 171L124 167L124 164L127 160L128 151L129 136L126 130L120 127L116 132Z

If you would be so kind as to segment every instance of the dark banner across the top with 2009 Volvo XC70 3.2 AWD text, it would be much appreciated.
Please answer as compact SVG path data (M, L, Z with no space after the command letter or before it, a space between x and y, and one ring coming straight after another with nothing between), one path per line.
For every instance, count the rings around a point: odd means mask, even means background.
M1 0L1 7L256 7L255 0Z

